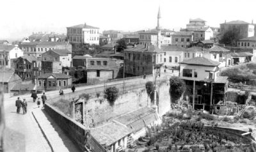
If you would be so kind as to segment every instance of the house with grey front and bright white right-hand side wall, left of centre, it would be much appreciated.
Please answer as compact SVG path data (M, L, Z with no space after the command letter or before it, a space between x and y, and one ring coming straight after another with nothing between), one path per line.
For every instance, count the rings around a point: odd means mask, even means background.
M65 49L48 50L42 54L42 61L60 61L62 66L70 67L72 53Z

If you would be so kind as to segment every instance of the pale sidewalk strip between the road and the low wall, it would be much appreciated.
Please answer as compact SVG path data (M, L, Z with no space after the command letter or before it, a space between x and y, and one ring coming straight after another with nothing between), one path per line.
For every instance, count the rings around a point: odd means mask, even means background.
M33 109L32 114L47 139L47 142L51 146L52 151L80 151L74 142L72 142L61 130L60 126L58 126L51 117L44 112L44 109Z

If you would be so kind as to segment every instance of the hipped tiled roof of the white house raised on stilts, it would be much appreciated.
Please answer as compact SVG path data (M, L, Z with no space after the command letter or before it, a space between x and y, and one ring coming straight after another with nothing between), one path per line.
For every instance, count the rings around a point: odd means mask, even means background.
M186 61L180 62L180 64L199 65L199 66L218 66L218 65L220 65L219 62L212 61L211 59L207 59L205 57L193 57L192 59L188 59Z

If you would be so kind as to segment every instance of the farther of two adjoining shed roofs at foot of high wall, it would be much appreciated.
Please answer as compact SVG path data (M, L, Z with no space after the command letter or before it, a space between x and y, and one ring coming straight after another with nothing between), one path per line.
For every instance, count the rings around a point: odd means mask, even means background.
M120 116L115 119L129 128L132 128L134 131L141 130L145 126L148 126L156 121L159 121L159 116L156 114L156 110L143 107L138 110L134 110L123 116Z

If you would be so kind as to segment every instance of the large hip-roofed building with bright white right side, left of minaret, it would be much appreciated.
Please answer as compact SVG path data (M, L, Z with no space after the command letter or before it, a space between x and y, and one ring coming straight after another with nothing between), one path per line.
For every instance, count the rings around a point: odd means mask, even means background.
M72 44L99 45L99 27L89 26L86 23L67 27L67 38Z

